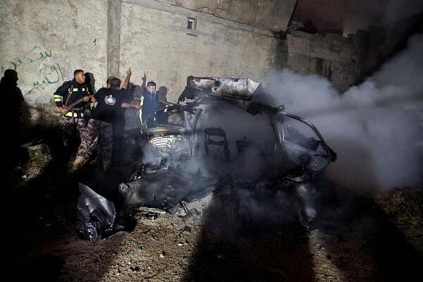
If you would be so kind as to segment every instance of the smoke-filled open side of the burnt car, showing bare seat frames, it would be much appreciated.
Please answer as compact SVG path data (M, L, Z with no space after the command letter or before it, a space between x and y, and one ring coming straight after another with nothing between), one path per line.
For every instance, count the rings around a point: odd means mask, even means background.
M219 104L207 110L201 131L204 134L199 135L199 149L207 157L228 161L222 166L229 166L236 177L255 177L270 164L274 138L265 115L252 116L236 107ZM210 142L213 140L217 144Z

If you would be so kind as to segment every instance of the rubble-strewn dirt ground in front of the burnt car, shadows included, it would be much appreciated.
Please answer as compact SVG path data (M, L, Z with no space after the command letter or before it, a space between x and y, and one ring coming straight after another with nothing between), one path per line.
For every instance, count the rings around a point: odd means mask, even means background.
M71 156L52 148L26 149L2 188L1 266L13 281L423 280L422 189L334 188L309 228L283 215L222 220L216 208L201 219L135 213L133 231L93 244L75 232L76 202L99 168L70 173Z

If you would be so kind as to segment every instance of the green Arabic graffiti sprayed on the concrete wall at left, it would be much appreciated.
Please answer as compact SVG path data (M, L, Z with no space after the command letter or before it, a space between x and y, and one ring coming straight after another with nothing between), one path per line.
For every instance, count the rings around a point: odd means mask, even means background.
M51 51L42 50L39 46L33 47L30 51L18 56L10 61L10 65L0 66L0 73L3 74L6 69L10 68L14 71L31 71L32 77L37 78L30 82L30 90L26 94L37 90L43 85L51 85L57 82L63 82L63 73L59 63L51 63Z

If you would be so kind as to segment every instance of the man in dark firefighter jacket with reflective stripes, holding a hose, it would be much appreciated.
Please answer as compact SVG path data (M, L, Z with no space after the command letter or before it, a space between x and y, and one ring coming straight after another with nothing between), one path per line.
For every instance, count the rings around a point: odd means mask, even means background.
M63 145L68 147L71 138L78 130L81 142L87 138L87 125L84 120L84 106L89 101L88 87L85 84L85 74L82 70L73 72L73 80L63 82L54 92L54 102L63 114ZM83 157L77 153L75 162L82 164Z

